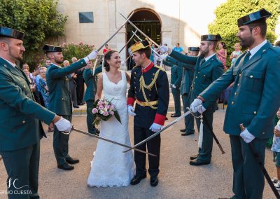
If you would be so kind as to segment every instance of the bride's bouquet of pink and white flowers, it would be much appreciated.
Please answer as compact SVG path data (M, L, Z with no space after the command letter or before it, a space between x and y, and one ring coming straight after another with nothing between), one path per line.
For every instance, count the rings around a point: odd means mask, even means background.
M118 114L116 107L107 99L97 99L97 101L94 102L92 114L94 114L95 117L93 121L94 125L99 125L101 120L108 121L112 116L115 116L117 121L121 123L120 115Z

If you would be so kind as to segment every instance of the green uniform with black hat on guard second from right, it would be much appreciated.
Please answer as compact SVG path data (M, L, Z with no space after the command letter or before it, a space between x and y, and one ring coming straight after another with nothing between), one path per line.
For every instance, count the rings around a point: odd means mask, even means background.
M220 37L216 35L202 35L202 41L216 41L218 39L220 39ZM188 104L193 102L193 100L197 98L200 92L206 89L208 85L210 85L213 81L215 81L223 74L223 63L218 60L216 54L211 56L207 61L205 61L204 56L191 57L188 55L177 53L174 50L172 50L170 56L186 64L195 64L195 74L193 84L191 85L190 96L188 97ZM211 130L213 130L213 115L217 107L216 99L218 99L218 95L211 98L209 102L203 105L203 107L207 109L206 111L204 111L203 117L207 119ZM200 118L196 118L196 123L199 130ZM211 134L211 130L207 128L207 125L204 125L202 148L198 151L198 157L196 158L194 165L197 165L196 163L198 163L198 165L209 164L211 161L213 146L213 136ZM192 162L193 161L190 161L191 165L193 165Z

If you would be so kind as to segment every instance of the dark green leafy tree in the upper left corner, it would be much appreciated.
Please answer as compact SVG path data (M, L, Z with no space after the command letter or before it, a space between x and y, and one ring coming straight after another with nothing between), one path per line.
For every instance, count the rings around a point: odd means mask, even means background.
M66 16L57 12L57 0L1 0L0 25L25 32L24 62L34 67L43 59L45 41L64 36Z

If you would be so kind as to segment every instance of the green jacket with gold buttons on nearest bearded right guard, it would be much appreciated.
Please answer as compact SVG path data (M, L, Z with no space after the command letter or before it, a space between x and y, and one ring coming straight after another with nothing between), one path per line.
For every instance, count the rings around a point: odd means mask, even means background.
M235 81L223 130L240 135L239 124L243 123L252 135L266 139L272 137L274 116L280 107L280 48L267 42L243 64L245 54L239 55L235 66L200 95L206 101L211 100Z

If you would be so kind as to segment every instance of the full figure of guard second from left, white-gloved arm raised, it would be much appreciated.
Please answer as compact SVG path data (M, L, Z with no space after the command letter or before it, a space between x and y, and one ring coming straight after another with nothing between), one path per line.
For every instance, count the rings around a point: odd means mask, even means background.
M50 91L49 109L71 121L72 107L67 75L85 67L87 62L97 57L97 51L92 51L90 55L87 55L87 57L84 57L82 60L71 64L69 67L62 68L60 66L60 64L63 63L62 48L45 45L43 46L43 50L45 51L45 55L52 62L46 73L46 81L48 90ZM55 128L55 132L53 133L53 150L57 160L57 167L62 170L73 170L73 164L79 163L78 159L69 156L68 142L69 135Z

